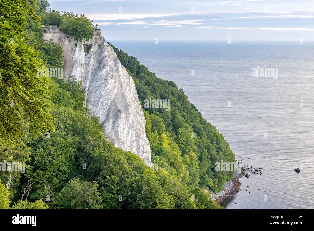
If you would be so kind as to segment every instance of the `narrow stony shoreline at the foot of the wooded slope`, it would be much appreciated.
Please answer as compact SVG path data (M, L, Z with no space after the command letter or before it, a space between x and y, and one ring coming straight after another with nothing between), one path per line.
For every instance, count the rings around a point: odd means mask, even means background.
M235 173L233 175L232 180L226 181L224 188L226 190L221 190L218 193L214 193L212 195L212 199L216 201L218 204L220 201L224 200L225 198L228 198L230 196L236 195L239 192L241 182L239 181L239 178L243 177L246 173L246 168L241 168L241 173Z

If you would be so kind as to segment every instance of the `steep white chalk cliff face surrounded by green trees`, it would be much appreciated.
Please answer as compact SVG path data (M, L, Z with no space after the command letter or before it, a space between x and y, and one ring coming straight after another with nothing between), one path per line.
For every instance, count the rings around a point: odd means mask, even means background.
M87 106L92 114L99 116L104 133L113 139L116 147L132 151L152 165L145 118L133 79L100 30L94 30L88 41L74 41L59 29L46 29L43 35L45 40L52 38L62 47L63 75L82 80Z

